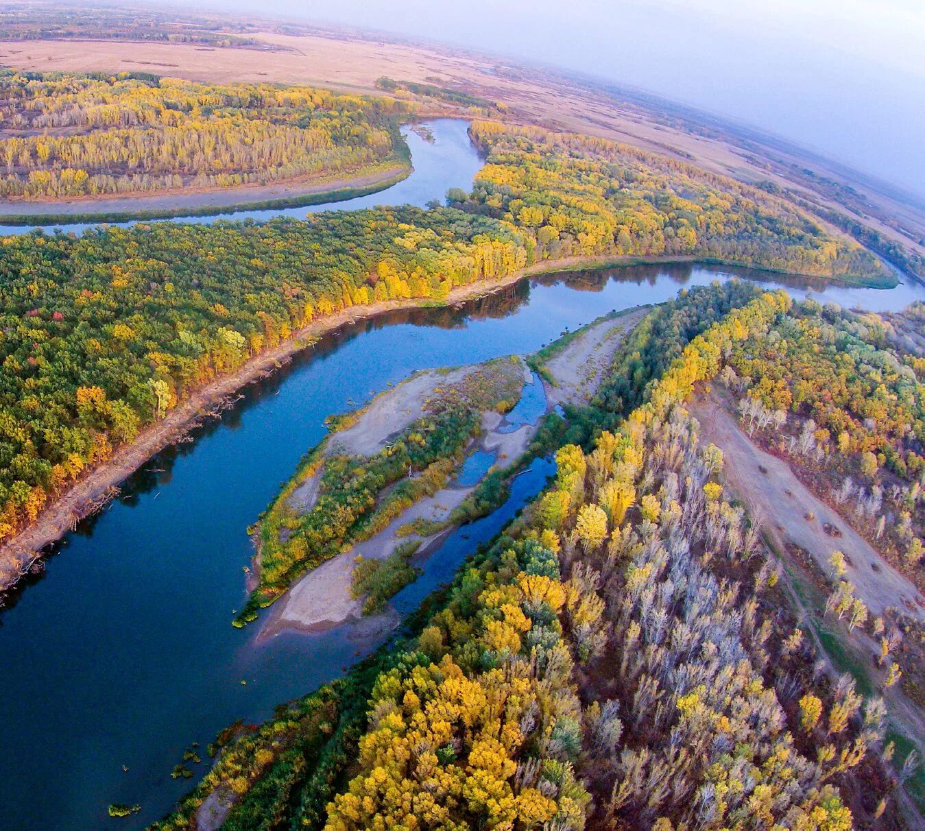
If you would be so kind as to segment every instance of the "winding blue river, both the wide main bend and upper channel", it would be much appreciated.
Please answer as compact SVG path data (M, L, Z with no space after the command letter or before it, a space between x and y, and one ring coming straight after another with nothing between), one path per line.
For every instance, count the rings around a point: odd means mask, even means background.
M469 187L479 161L465 125L434 127L434 144L410 136L412 177L333 207L424 205L450 187ZM293 210L303 216L325 207ZM192 742L204 748L235 719L264 719L381 641L361 626L268 641L256 638L256 625L230 626L253 553L245 527L323 438L327 415L361 405L414 370L533 352L611 309L658 303L733 273L684 265L549 275L456 308L365 320L332 332L248 387L193 441L152 459L123 485L120 499L62 541L43 575L0 617L0 826L143 827L191 788L170 771ZM813 290L823 302L872 309L925 296L910 286L861 290L739 274L796 296ZM514 480L499 511L450 535L425 576L396 598L400 611L449 579L478 541L542 488L550 470L537 460ZM192 765L197 776L206 763ZM109 820L110 802L139 803L142 812Z

